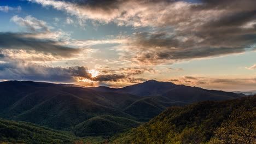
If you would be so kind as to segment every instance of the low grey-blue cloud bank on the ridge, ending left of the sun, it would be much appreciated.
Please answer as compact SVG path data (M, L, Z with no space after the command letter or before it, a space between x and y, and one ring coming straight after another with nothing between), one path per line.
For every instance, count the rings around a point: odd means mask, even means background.
M0 79L50 82L74 82L76 77L90 78L85 67L49 67L33 63L0 63Z

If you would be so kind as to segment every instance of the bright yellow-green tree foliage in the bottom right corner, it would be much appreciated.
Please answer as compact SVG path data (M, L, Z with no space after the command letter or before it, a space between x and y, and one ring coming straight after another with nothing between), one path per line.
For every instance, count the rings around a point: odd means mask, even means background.
M217 128L212 144L256 143L256 108L234 110L230 117Z

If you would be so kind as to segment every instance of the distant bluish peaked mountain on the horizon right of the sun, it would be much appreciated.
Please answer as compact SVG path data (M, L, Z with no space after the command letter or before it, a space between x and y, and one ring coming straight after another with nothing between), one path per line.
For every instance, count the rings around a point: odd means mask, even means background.
M194 103L196 101L203 100L226 100L245 96L232 92L214 91L199 87L175 85L171 82L159 82L155 80L149 80L123 88L91 87L91 89L100 92L129 93L140 97L164 96L171 101L182 101L185 103Z

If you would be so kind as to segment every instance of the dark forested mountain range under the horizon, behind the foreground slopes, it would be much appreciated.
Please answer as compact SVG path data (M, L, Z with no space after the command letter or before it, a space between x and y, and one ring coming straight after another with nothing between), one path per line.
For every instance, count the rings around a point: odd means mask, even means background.
M138 127L170 106L243 96L154 80L124 88L4 81L0 117L73 131L77 136L110 136Z

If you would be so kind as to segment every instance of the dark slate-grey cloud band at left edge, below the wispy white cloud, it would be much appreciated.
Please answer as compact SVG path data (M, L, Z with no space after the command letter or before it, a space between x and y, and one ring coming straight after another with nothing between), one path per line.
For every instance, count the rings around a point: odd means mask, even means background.
M26 34L0 33L0 49L25 49L51 53L53 56L72 57L79 49L61 46L56 41L26 38Z

